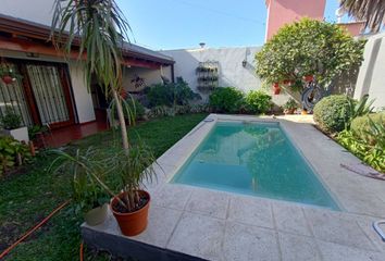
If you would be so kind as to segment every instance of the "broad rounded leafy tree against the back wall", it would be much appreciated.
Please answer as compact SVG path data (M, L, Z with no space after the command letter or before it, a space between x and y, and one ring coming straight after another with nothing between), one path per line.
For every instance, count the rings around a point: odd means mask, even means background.
M268 84L289 82L302 90L313 75L327 87L341 72L363 60L364 41L355 40L336 24L302 18L285 25L256 54L257 74Z

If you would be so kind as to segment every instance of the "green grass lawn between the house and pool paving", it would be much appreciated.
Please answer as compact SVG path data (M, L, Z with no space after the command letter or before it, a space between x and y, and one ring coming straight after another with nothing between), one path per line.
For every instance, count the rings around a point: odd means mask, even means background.
M131 142L136 142L137 135L140 135L158 158L204 116L191 114L152 120L131 127L128 136ZM108 130L69 146L105 147L112 142L112 136L113 133ZM42 153L23 172L0 181L0 252L71 197L71 173L47 173L52 160L52 156ZM77 260L82 221L82 216L75 215L69 206L20 244L5 259Z

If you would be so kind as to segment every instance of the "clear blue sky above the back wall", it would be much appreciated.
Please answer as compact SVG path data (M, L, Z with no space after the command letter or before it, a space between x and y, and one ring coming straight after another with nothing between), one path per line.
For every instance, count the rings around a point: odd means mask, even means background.
M306 0L305 0L306 1ZM261 46L265 0L116 0L132 27L131 41L153 50ZM326 0L335 22L338 0Z

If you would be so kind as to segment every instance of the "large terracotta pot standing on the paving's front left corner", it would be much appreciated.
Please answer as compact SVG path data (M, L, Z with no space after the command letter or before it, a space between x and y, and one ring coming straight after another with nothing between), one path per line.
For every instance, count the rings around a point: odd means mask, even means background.
M116 210L114 210L113 206L116 206L117 202L117 197L123 198L124 192L117 195L112 199L111 202L111 210L113 215L115 216L119 226L121 227L122 234L125 236L136 236L139 235L141 232L144 232L147 227L148 223L148 209L150 208L150 195L145 191L145 190L139 190L139 194L146 198L148 198L148 201L146 204L131 213L121 213Z

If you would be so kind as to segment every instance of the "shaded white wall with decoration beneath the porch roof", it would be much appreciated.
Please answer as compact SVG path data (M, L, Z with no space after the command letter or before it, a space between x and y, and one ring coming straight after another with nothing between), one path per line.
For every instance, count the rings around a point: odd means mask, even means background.
M163 76L172 80L171 66L163 66ZM132 83L135 75L145 79L145 84L141 88L135 88L135 83ZM160 69L145 69L145 67L125 67L123 71L123 87L127 91L139 91L142 90L146 86L152 84L162 83Z

